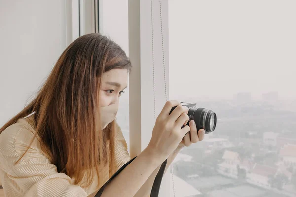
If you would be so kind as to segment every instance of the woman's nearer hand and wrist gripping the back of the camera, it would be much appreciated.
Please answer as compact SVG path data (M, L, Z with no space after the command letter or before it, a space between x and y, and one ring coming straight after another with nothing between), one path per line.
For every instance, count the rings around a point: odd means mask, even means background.
M177 106L170 114L173 107ZM178 101L167 101L156 119L152 138L147 146L149 151L161 160L166 160L173 153L183 137L190 131L185 125L188 120L188 107ZM162 162L163 162L162 161Z

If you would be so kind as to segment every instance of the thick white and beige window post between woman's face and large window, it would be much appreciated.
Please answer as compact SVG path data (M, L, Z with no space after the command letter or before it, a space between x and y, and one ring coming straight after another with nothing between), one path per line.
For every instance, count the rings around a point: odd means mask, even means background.
M168 58L168 0L161 0L162 30L164 36L166 89L169 96ZM162 62L162 40L159 0L152 1L155 106L156 116L165 104L165 86ZM129 0L129 57L133 64L130 74L130 150L131 156L143 151L154 127L154 92L152 72L152 30L150 0ZM169 170L161 184L159 197L170 194Z

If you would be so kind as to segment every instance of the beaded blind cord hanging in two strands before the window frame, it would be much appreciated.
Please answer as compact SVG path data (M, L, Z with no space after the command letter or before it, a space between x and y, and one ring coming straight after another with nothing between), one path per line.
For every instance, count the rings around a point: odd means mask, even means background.
M151 3L151 30L152 30L152 69L153 69L153 96L154 96L154 121L156 122L156 100L155 100L155 71L154 71L154 29L153 29L153 3ZM159 10L160 10L160 28L161 28L161 44L162 44L162 64L163 64L163 74L164 74L164 90L165 90L165 101L168 101L168 94L167 94L167 84L166 84L166 69L165 69L165 56L164 56L164 39L163 39L163 28L162 28L162 8L161 8L161 0L159 0ZM174 185L174 166L173 163L171 164L172 170L172 184L173 184L173 193L174 197L175 194L175 185Z

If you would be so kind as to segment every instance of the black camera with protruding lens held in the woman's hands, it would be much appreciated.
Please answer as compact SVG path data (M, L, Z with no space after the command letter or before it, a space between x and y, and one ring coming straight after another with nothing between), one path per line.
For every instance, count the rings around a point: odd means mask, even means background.
M194 120L197 131L200 129L204 129L205 134L208 134L215 130L216 123L217 123L217 116L216 116L216 113L214 113L212 110L207 108L197 108L196 103L181 102L181 105L189 108L189 111L188 111L189 121L187 125L189 125L190 120ZM176 107L177 106L172 108L170 114L172 113L172 111L174 111Z

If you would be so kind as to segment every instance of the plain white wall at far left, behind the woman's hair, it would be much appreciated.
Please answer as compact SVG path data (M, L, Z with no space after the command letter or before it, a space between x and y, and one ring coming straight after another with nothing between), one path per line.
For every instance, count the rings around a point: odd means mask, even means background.
M60 0L0 0L0 125L40 87L66 47Z

